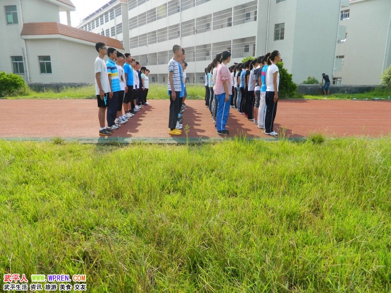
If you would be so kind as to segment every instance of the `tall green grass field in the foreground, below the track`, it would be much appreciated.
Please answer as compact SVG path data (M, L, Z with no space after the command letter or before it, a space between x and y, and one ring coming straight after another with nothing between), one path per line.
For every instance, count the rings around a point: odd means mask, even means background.
M2 273L82 273L94 293L391 290L390 139L55 142L0 141Z

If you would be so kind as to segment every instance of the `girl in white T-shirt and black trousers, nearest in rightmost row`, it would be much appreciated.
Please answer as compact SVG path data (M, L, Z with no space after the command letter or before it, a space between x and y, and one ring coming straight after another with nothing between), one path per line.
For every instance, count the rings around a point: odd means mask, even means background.
M280 85L280 72L277 63L281 60L280 52L275 50L268 58L269 67L266 72L266 118L264 134L276 136L278 133L273 130L274 119L276 118L278 103L278 87Z

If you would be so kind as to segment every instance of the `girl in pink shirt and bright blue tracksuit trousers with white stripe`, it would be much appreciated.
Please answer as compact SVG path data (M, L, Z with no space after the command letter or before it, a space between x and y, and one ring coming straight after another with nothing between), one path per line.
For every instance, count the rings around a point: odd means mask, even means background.
M218 134L227 135L229 131L225 129L225 126L227 125L232 96L232 78L227 63L231 61L231 53L229 51L222 52L220 61L221 63L218 66L216 76L216 96L218 103L216 125Z

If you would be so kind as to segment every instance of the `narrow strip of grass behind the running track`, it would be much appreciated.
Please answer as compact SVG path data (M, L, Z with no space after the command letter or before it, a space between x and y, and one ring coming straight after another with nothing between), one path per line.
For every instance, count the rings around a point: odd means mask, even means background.
M205 87L203 85L188 85L187 86L189 99L204 99ZM356 98L358 100L373 99L373 98L385 98L391 95L391 90L377 89L363 94L334 94L327 96L328 100L351 100ZM17 99L88 99L95 97L95 87L71 87L65 88L60 92L54 92L53 90L46 90L44 92L29 91L26 96L19 97L5 97L4 99L17 100ZM148 99L167 99L167 85L165 84L151 84ZM310 95L297 95L296 99L324 99L325 96L310 96Z

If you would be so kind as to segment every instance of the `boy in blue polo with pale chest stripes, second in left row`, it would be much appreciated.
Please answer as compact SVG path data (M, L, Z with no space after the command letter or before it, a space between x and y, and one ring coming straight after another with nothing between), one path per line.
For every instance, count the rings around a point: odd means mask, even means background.
M107 49L109 59L106 62L107 73L109 75L110 93L109 93L109 108L107 111L107 124L110 129L119 128L119 124L115 123L118 107L118 95L121 87L119 85L118 70L114 60L117 58L117 51L114 48Z

